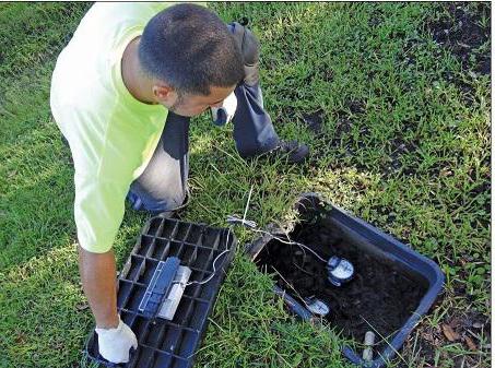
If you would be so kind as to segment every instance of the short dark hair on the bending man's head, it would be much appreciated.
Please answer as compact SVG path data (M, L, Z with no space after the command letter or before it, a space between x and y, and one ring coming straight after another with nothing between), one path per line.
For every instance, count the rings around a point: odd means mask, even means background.
M197 4L173 5L153 16L138 52L144 72L179 94L209 95L211 86L233 86L244 78L243 56L227 25Z

